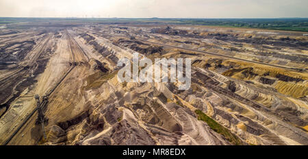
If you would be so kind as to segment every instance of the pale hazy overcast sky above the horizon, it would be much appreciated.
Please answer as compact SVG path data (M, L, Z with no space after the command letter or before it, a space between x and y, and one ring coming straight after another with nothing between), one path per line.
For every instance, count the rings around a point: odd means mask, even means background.
M307 0L0 0L5 17L308 17Z

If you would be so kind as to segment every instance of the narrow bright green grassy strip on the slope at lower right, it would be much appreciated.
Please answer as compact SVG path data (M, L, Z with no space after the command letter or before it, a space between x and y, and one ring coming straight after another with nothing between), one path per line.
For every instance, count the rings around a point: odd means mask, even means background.
M232 134L231 131L228 130L226 127L223 127L222 125L208 117L201 110L196 110L195 112L198 115L198 120L205 121L205 123L207 123L207 125L209 125L212 130L224 136L224 138L229 140L230 143L232 143L233 145L242 145L242 141L240 140L240 138Z

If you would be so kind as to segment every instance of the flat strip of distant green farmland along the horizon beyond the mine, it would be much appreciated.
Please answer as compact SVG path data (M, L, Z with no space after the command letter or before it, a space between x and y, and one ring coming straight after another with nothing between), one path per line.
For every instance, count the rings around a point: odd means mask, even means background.
M0 25L20 22L41 23L98 23L98 24L177 24L177 25L209 25L222 27L245 27L259 29L278 29L296 32L308 32L307 18L294 19L79 19L79 18L0 18Z

